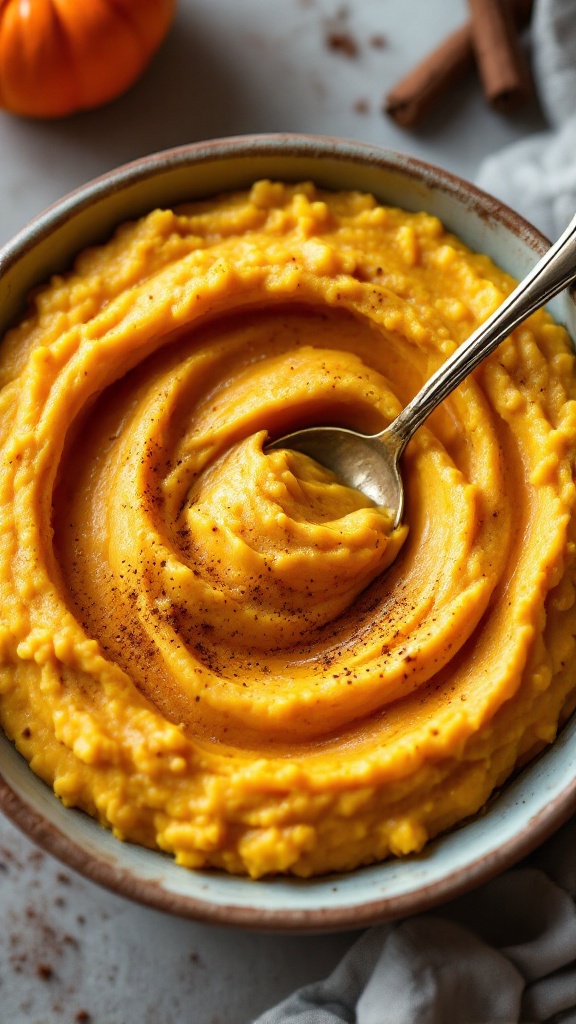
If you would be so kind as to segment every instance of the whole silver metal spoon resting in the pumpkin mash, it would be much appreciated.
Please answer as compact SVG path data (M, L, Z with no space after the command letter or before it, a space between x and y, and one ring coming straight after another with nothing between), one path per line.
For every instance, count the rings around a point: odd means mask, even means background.
M558 242L510 292L501 306L436 371L400 416L378 434L344 427L307 427L266 444L311 456L377 505L404 513L400 458L414 432L464 377L490 355L511 331L576 280L576 217Z

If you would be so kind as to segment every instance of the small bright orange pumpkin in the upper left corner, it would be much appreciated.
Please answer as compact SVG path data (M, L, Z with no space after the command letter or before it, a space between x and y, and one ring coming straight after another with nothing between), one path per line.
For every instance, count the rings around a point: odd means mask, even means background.
M0 0L0 106L54 118L98 106L141 74L176 0Z

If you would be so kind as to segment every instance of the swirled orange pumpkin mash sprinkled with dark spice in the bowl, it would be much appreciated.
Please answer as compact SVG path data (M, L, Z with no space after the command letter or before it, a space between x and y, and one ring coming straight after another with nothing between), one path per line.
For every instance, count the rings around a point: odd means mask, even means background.
M405 523L266 437L381 429L511 289L426 213L156 210L0 347L0 716L120 839L260 877L409 854L572 710L576 383L540 311L403 459Z

